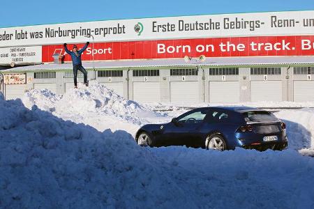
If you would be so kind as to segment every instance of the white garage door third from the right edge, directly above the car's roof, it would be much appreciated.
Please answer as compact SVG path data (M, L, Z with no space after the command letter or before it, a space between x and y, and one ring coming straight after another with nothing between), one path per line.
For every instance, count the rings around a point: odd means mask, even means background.
M236 103L239 97L239 82L209 82L209 102Z

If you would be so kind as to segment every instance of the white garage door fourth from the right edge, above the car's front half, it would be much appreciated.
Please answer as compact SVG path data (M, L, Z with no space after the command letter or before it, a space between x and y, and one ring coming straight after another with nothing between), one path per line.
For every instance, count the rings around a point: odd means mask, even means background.
M170 101L197 103L199 99L198 82L170 82Z

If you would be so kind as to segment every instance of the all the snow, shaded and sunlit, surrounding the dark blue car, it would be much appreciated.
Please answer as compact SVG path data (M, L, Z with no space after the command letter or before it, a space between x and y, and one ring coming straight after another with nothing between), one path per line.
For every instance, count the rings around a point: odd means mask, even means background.
M221 153L137 146L138 127L182 112L151 109L96 82L0 97L0 208L314 208L312 109L276 112L287 150Z

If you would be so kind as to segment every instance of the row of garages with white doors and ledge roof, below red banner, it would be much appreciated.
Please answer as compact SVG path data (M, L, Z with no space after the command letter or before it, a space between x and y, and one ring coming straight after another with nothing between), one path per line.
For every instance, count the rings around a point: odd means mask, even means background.
M238 59L212 58L197 64L184 59L84 63L94 79L119 95L138 102L175 104L260 101L314 101L314 57ZM210 62L210 63L209 63ZM214 62L215 64L213 64ZM264 63L262 63L264 62ZM6 99L20 98L31 89L63 94L73 88L72 65L44 64L3 70L24 74L26 84L6 84ZM83 82L82 73L78 82Z

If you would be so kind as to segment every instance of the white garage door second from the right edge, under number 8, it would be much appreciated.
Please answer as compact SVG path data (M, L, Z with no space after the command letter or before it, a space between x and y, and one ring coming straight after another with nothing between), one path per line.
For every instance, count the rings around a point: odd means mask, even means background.
M281 81L251 81L251 101L274 101L283 100Z

